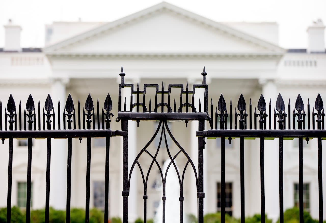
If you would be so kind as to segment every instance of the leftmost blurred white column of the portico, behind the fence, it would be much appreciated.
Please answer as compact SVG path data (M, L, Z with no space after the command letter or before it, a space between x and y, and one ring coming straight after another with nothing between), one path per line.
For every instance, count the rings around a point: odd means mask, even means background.
M67 79L54 79L51 86L51 98L55 110L55 119L62 114L67 100ZM58 113L58 99L60 99L61 111ZM61 121L62 121L61 117ZM58 124L55 126L58 129ZM61 129L62 129L61 123ZM51 145L51 172L50 172L50 206L55 209L66 209L67 191L67 140L52 139Z

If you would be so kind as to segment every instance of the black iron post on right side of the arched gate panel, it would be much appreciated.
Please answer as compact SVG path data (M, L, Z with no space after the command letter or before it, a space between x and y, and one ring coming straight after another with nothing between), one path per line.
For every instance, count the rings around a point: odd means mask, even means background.
M205 120L199 120L198 124L198 131L204 131ZM198 137L198 223L204 222L204 148L205 138Z

